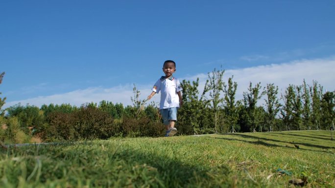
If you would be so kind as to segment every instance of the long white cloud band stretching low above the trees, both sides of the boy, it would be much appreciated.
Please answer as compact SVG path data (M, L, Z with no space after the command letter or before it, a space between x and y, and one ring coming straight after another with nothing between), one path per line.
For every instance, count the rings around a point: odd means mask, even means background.
M311 84L313 80L324 86L324 89L335 90L335 58L329 59L313 59L299 60L289 63L270 64L243 69L226 70L224 74L225 82L228 78L234 75L234 81L238 83L237 99L242 98L243 91L247 91L249 82L255 85L261 82L262 86L274 83L278 85L281 92L284 92L288 84L300 85L303 79L307 84ZM202 92L203 86L207 79L207 73L188 76L187 80L196 80L199 78L199 90ZM138 85L137 88L141 91L141 99L145 99L151 93L150 87L152 83ZM102 100L113 103L122 103L124 105L131 104L130 97L133 96L133 85L121 85L111 88L90 87L87 89L75 90L68 93L56 94L50 96L40 96L21 101L12 101L5 104L8 107L14 104L31 104L41 106L42 104L63 104L68 103L80 106L81 104ZM159 95L155 95L153 101L157 102ZM263 101L262 101L263 103Z

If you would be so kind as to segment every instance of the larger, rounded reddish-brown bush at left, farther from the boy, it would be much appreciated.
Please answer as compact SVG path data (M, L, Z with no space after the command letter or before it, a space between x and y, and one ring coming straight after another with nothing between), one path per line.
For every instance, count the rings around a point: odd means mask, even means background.
M41 130L43 140L107 139L119 132L113 117L96 107L83 106L72 113L53 112Z

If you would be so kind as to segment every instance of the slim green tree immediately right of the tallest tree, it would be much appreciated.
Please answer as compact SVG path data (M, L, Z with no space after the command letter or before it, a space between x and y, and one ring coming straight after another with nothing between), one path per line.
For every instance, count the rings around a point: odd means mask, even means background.
M228 79L228 85L224 85L224 113L227 125L232 127L232 132L239 130L237 122L239 119L238 107L235 102L236 90L238 84L233 82L234 76ZM238 131L237 130L237 131Z

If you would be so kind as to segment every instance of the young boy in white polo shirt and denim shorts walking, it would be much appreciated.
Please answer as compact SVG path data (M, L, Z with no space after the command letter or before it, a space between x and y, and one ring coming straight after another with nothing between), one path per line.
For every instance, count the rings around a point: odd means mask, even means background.
M177 132L174 124L177 121L179 104L183 104L182 94L180 92L183 89L180 86L179 80L172 76L175 71L176 63L172 60L165 61L163 64L163 72L165 73L165 76L158 79L151 89L152 93L148 96L148 100L150 100L152 96L161 91L159 111L167 129L165 136L173 136Z

